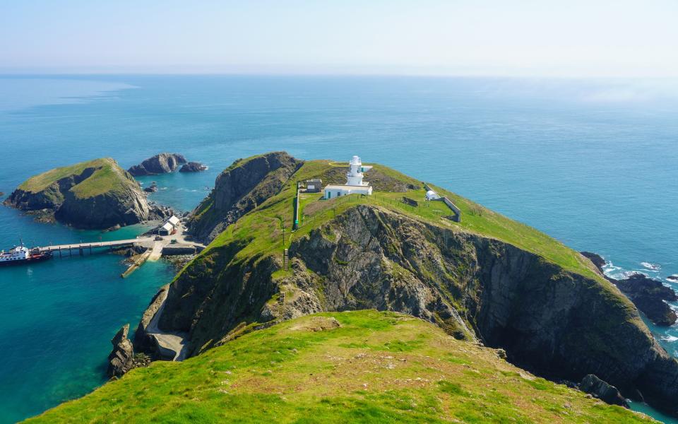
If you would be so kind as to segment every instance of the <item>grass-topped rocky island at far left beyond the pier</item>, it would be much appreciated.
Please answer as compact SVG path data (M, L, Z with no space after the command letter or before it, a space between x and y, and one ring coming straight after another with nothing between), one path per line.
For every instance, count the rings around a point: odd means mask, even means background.
M76 228L131 225L171 213L149 204L138 182L111 158L59 167L30 177L4 201L7 206Z

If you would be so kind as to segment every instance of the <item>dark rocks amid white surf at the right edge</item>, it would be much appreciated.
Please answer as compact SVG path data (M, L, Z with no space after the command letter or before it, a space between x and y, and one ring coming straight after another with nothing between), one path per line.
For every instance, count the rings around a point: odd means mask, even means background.
M595 266L601 271L605 266L605 259L599 255L590 252L581 252L588 257ZM629 278L617 280L607 277L607 280L617 285L617 288L626 295L634 305L641 310L643 314L658 326L671 326L676 323L678 316L666 302L675 302L678 300L676 292L668 288L653 278L642 273L634 273Z

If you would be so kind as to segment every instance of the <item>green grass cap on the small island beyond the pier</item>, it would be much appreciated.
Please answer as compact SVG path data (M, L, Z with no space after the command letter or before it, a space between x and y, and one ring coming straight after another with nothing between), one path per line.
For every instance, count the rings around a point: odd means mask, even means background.
M81 199L106 192L121 192L129 187L129 184L134 184L131 179L126 177L125 171L119 167L115 160L101 158L43 172L40 175L30 177L18 188L25 192L41 192L59 179L70 175L81 175L88 168L96 168L93 175L71 189L73 194Z

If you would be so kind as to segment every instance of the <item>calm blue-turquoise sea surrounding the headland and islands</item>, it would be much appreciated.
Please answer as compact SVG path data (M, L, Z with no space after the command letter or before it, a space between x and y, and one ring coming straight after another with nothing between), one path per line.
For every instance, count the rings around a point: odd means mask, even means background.
M161 187L152 199L189 211L237 158L360 155L600 253L610 273L643 271L670 284L677 117L678 81L669 80L1 76L0 192L52 167L104 156L129 167L167 151L210 167L141 179ZM140 232L35 223L0 206L5 249L19 237L45 245ZM105 382L110 338L126 322L136 326L174 275L158 261L123 280L121 259L0 269L0 422ZM678 356L678 328L651 329Z

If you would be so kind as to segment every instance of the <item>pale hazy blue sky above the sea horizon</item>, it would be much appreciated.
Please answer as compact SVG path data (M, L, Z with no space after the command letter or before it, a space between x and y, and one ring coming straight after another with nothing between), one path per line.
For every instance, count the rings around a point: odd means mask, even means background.
M678 1L0 0L0 72L678 76Z

